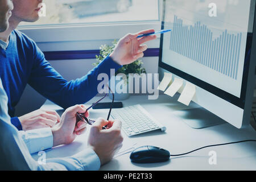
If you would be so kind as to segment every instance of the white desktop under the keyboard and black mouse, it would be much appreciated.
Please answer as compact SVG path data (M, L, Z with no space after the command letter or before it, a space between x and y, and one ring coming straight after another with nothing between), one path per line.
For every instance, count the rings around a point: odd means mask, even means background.
M86 105L92 104L98 98L93 98ZM109 102L105 98L102 102ZM177 102L177 97L171 98L160 95L158 100L148 100L147 96L131 96L129 100L123 101L124 106L141 104L152 116L158 119L167 127L165 133L152 131L151 133L141 134L134 137L127 137L123 133L123 148L127 148L134 143L135 147L151 145L158 146L170 151L171 154L181 154L195 150L210 144L220 144L236 142L239 140L256 139L256 132L250 126L247 129L238 130L236 127L225 123L218 126L208 127L206 129L192 129L187 126L181 118L174 114L176 110L187 109L187 106ZM199 107L192 103L189 108ZM46 101L42 106L44 109L61 109L59 106ZM61 111L61 110L60 110ZM90 118L106 118L107 109L90 110ZM48 151L46 158L64 157L76 154L87 146L86 138L89 134L89 127L84 135L67 146L59 146ZM217 164L209 164L209 152L215 151L217 154ZM256 169L256 142L246 142L239 144L230 144L227 146L218 146L204 148L193 152L192 154L172 157L168 162L154 164L135 164L129 159L130 154L125 154L113 159L110 163L101 167L101 170L255 170ZM34 155L34 159L39 156Z

